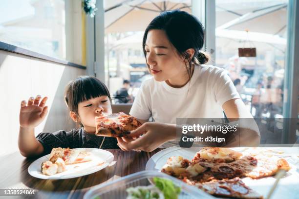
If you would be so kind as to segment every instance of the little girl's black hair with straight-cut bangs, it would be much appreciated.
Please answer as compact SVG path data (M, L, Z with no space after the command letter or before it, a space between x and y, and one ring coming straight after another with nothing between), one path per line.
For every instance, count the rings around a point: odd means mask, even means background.
M64 92L64 100L69 111L73 111L78 116L78 104L80 102L97 98L100 96L108 96L111 101L109 90L106 85L95 77L80 76L70 81Z

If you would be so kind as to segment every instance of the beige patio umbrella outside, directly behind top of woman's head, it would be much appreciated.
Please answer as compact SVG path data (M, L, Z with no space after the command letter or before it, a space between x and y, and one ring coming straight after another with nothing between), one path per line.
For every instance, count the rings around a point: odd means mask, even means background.
M191 0L106 0L105 33L144 31L160 12L179 9L191 13Z

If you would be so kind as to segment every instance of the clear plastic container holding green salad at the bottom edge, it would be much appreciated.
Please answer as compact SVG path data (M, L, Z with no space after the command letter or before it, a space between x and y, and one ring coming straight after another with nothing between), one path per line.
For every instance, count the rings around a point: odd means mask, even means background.
M108 183L100 184L87 191L84 199L126 199L128 196L126 192L127 188L148 186L151 184L153 177L170 179L176 186L181 187L179 199L215 199L213 196L194 186L157 171L141 171Z

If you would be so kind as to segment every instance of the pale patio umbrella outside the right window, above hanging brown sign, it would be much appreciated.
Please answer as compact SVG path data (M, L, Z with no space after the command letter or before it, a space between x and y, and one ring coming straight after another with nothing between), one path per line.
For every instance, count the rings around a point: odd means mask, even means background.
M253 47L254 44L258 54L273 47L284 54L287 43L287 6L285 0L240 1L235 2L235 5L229 1L218 1L215 30L217 46L226 43L227 48L235 49ZM229 13L229 20L225 20L223 16Z

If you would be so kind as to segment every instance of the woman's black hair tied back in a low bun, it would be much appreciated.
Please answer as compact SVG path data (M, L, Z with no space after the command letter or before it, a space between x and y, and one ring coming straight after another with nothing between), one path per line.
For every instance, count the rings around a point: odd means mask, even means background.
M192 63L204 64L209 60L209 56L200 51L204 45L204 27L201 22L185 11L172 10L162 12L155 17L148 25L143 36L143 52L146 57L145 43L147 40L149 30L158 29L164 30L168 40L175 47L177 53L184 59L188 58L189 68L186 65L189 80L191 78L191 65ZM186 52L187 49L193 48L194 55ZM149 64L147 63L148 67Z

